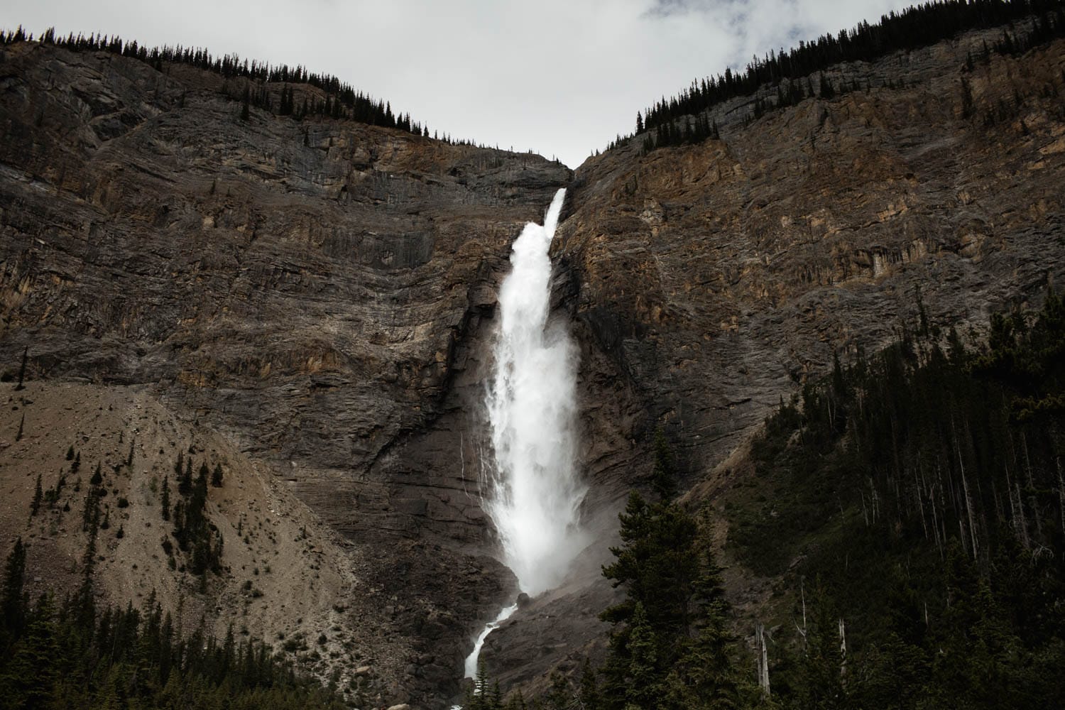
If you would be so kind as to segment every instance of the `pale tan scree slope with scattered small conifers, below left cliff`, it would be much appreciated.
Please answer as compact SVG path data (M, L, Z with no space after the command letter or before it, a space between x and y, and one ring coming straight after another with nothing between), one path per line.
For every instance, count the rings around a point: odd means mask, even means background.
M218 434L178 419L142 386L2 386L0 531L5 544L19 536L28 546L31 599L46 591L62 598L81 584L87 494L99 470L94 577L100 608L154 597L176 616L179 632L206 622L218 639L230 630L275 643L298 667L350 689L360 703L395 691L407 665L402 633L391 620L360 623L386 604L366 578L372 560L323 525L268 468ZM223 474L220 485L208 489L207 506L224 550L218 575L194 574L194 550L183 552L171 536L179 502L187 505L176 470L182 461L194 476L200 465ZM35 503L38 480L45 494Z

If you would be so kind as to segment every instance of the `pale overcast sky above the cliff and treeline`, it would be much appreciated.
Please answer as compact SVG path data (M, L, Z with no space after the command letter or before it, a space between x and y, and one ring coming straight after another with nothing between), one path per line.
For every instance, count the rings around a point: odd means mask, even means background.
M636 112L900 0L3 0L0 27L302 64L430 130L576 167Z

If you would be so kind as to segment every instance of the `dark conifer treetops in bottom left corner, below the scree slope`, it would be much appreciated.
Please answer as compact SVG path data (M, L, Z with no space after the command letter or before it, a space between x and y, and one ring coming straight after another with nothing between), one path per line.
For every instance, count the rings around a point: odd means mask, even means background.
M21 593L21 541L7 561L0 698L4 708L280 708L339 710L341 699L295 676L257 640L223 643L202 627L187 638L154 599L143 610L45 595L30 608Z

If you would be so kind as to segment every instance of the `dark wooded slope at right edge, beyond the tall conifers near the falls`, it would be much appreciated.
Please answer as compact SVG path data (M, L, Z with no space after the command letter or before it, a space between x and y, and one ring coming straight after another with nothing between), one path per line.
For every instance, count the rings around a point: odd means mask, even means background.
M1065 704L1065 307L996 315L974 349L937 332L782 403L726 507L743 564L819 580L771 659L785 706Z

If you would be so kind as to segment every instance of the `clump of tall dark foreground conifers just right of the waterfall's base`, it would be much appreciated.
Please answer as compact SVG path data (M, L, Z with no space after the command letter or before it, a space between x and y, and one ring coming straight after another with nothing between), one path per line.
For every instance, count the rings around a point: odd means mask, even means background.
M616 561L603 574L626 595L602 614L615 628L590 707L736 707L730 608L706 526L677 503L649 503L635 491L620 521L623 544L611 548Z

